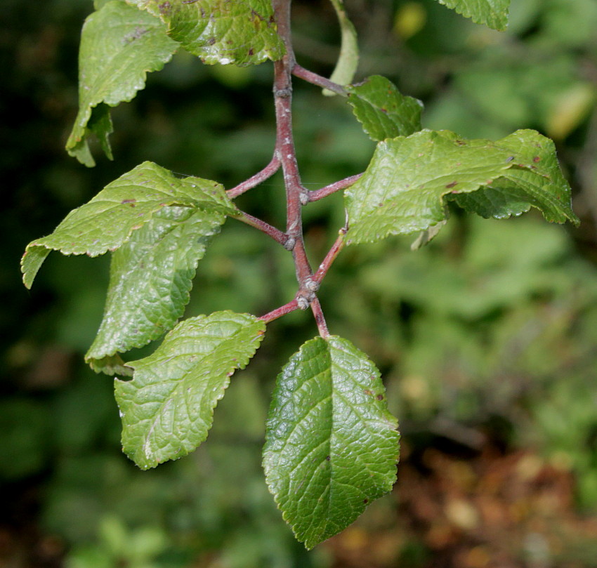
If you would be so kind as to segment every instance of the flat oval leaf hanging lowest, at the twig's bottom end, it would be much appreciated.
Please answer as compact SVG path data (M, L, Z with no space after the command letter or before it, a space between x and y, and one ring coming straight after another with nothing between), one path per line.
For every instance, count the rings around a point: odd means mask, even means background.
M307 548L392 489L398 423L379 371L352 343L317 337L277 378L263 467L268 487Z

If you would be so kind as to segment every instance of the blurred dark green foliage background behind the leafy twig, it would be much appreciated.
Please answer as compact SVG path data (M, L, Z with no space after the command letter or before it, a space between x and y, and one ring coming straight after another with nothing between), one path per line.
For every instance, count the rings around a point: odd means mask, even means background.
M331 6L293 4L298 61L329 74L339 40ZM108 259L53 253L30 293L18 273L29 241L140 161L227 187L261 169L275 139L271 66L176 55L114 110L116 159L88 170L63 145L92 2L4 0L1 567L595 567L597 3L512 0L503 34L435 0L346 6L360 33L359 77L385 74L423 100L427 128L471 138L537 128L554 138L582 226L454 211L421 251L389 239L343 252L320 299L332 333L380 367L403 460L393 494L306 553L260 460L275 376L316 333L308 314L270 325L195 454L141 472L120 452L112 381L82 362ZM365 168L373 145L341 100L296 80L294 107L308 187ZM283 225L279 177L238 201ZM341 196L304 215L316 265L343 224ZM229 220L199 265L188 314L262 314L295 286L289 255Z

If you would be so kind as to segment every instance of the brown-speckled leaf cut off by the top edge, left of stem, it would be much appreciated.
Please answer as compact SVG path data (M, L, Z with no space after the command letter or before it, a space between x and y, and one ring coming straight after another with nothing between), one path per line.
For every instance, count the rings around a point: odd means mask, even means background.
M172 39L209 65L255 65L284 55L270 0L126 1L161 18Z

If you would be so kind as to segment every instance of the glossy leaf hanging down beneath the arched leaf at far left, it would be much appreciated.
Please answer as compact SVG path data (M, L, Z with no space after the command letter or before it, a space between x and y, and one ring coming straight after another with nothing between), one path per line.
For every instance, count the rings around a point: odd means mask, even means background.
M96 369L119 372L95 360L142 347L172 328L224 220L217 211L164 207L114 252L103 321L86 355Z

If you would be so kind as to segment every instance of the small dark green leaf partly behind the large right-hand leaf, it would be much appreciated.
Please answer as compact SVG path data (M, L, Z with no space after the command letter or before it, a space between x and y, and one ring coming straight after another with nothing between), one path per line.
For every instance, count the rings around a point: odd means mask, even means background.
M421 101L400 94L386 77L373 75L350 85L347 91L355 117L372 140L380 142L421 130Z

